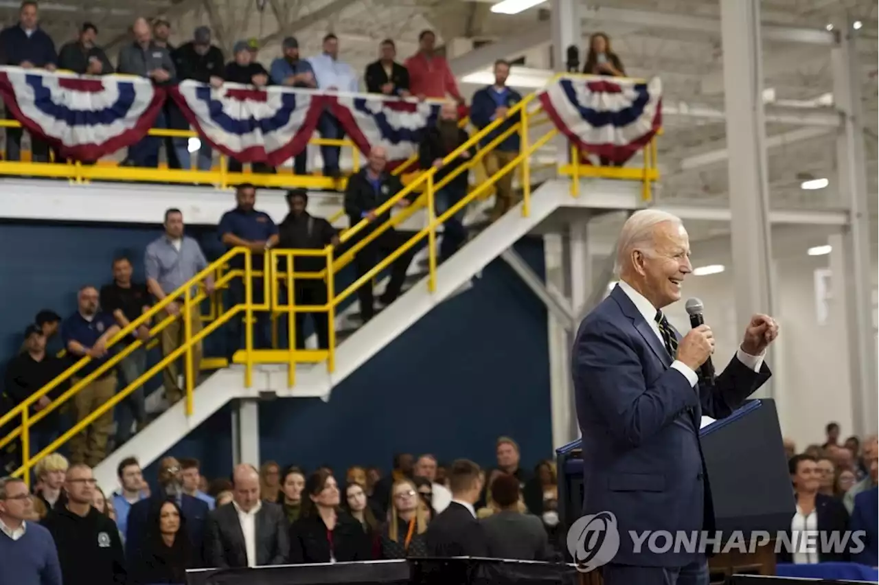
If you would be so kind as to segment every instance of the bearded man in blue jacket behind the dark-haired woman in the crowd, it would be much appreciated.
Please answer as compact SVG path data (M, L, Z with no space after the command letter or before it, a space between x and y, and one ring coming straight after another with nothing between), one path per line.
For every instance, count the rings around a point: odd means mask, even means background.
M210 509L207 502L188 495L183 490L183 469L173 457L159 461L159 488L145 500L135 503L128 511L128 525L125 532L125 553L128 559L137 559L141 553L143 537L147 533L149 512L162 507L164 502L174 500L183 512L189 542L193 545L193 565L200 566L202 542L204 542L205 521ZM66 585L66 583L65 583Z

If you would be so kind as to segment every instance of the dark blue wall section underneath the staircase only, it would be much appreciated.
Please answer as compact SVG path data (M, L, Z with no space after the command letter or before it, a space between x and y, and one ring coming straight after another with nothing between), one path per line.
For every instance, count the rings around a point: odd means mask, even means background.
M542 276L542 241L517 249ZM200 459L209 477L229 473L229 413L223 408L169 454ZM281 465L387 470L396 451L491 465L495 440L510 435L533 466L552 450L546 307L497 260L471 290L345 379L329 402L267 401L259 416L261 459ZM156 467L146 476L156 477Z

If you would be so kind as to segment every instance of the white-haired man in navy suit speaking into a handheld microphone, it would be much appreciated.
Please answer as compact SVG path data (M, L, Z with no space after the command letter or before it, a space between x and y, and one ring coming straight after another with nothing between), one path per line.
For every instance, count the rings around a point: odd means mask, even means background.
M715 347L711 329L681 338L662 313L680 300L689 256L679 218L634 213L618 242L620 282L580 324L571 351L584 514L611 512L620 535L619 551L601 567L606 585L708 585L704 553L651 553L649 541L637 550L629 531L714 530L701 416L730 415L771 375L763 359L778 325L756 314L713 386L700 383L696 372Z

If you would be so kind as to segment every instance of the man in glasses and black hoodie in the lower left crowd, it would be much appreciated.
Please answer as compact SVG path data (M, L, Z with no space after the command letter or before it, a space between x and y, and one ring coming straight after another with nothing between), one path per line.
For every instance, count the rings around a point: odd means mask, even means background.
M64 481L67 504L43 521L54 538L64 585L114 585L126 582L119 529L95 509L91 467L74 464ZM30 526L28 526L30 530Z

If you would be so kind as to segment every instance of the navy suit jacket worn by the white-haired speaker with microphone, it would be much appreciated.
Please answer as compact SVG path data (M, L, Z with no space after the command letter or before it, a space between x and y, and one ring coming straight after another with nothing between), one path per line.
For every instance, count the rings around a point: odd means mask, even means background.
M699 442L701 416L724 418L771 373L737 358L714 390L671 368L672 358L619 285L580 324L571 351L577 415L583 434L583 513L613 512L620 549L613 562L683 567L684 552L635 552L629 531L715 529L714 507ZM657 545L662 545L660 541Z

